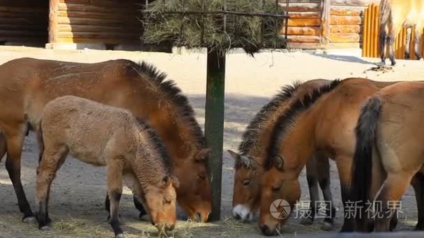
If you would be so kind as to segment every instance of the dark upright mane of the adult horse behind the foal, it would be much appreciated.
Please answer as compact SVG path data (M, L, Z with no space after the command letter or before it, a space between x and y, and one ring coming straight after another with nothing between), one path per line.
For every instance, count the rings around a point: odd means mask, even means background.
M156 84L161 92L174 103L183 121L188 123L188 127L190 127L192 134L195 136L196 142L203 146L205 144L205 138L199 123L195 119L195 111L192 109L188 98L176 86L176 83L173 80L166 80L167 74L165 72L160 72L155 66L145 61L138 63L136 70L151 79L151 82Z

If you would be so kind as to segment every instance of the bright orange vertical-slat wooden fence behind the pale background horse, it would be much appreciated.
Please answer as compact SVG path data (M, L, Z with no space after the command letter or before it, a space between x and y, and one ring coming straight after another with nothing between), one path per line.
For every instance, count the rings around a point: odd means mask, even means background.
M410 47L410 55L415 59L414 54L414 29L411 29L411 44L407 46L407 28L403 28L395 40L395 58L404 59L405 47ZM424 39L424 38L423 38ZM423 55L423 40L421 40L421 55ZM363 43L362 56L364 57L379 57L379 6L372 3L364 11L363 20Z

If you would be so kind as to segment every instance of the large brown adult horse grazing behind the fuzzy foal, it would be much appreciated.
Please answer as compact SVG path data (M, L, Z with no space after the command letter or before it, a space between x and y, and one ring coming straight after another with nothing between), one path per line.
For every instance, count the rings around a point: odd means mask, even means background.
M173 81L165 79L152 65L127 60L69 63L19 58L0 65L0 129L7 144L6 169L24 220L33 218L20 180L24 136L28 129L38 129L47 102L75 95L128 109L149 122L167 146L179 179L179 205L188 216L206 221L211 212L206 173L210 150L204 148L202 129L187 98Z

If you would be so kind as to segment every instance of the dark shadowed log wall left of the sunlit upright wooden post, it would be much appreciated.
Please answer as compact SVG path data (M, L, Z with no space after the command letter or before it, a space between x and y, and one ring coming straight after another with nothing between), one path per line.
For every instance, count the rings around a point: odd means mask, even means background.
M47 43L49 0L0 0L0 45Z

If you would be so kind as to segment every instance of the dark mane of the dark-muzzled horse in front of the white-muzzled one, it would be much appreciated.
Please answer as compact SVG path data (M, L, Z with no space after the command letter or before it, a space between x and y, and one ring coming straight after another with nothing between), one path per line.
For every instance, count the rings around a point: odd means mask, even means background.
M268 169L273 165L273 157L275 154L278 154L278 149L280 147L279 139L283 138L285 134L289 132L290 127L296 122L297 116L303 111L309 109L310 106L317 102L322 95L331 92L331 90L336 88L340 82L340 79L335 79L331 82L331 84L326 84L320 88L314 89L311 94L305 95L305 97L293 102L289 106L289 109L278 117L271 134L271 143L267 148L264 168Z

